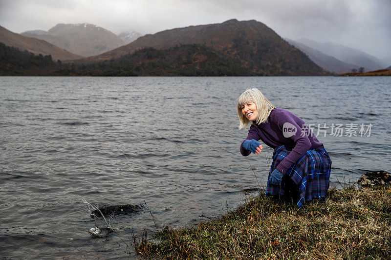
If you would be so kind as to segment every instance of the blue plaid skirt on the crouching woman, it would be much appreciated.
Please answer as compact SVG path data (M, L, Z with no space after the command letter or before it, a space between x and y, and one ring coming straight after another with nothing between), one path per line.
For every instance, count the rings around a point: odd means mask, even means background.
M308 150L302 158L286 171L281 186L269 183L270 174L290 151L284 145L274 149L266 196L286 196L286 193L289 193L288 189L292 193L292 189L296 188L297 197L295 199L298 200L297 205L299 207L314 198L325 198L329 186L331 159L323 147Z

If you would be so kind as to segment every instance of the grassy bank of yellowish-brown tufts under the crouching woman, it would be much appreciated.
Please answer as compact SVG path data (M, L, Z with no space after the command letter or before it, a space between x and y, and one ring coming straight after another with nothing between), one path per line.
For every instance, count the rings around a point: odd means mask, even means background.
M390 259L391 188L330 190L303 208L260 195L217 220L166 227L135 249L158 259Z

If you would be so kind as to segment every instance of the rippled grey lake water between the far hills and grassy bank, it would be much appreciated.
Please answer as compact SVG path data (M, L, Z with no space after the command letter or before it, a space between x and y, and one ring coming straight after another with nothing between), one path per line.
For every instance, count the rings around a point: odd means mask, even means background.
M185 226L243 203L273 154L240 155L249 86L323 127L332 186L391 171L391 77L0 77L0 257L134 258L126 244L152 233L148 208L159 227ZM148 208L93 239L83 199Z

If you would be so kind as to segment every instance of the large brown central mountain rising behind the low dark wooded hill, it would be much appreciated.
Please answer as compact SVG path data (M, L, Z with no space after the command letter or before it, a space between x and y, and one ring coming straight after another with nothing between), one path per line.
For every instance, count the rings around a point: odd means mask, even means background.
M254 75L325 75L321 67L290 45L272 29L256 20L228 20L223 23L189 26L148 34L104 54L77 62L118 59L146 47L164 50L183 44L212 48Z

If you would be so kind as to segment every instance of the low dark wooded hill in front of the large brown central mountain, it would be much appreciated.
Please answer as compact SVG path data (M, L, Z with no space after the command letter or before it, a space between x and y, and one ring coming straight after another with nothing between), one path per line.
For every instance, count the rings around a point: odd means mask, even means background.
M254 76L236 59L211 47L184 44L158 50L137 50L118 59L63 68L62 75L83 76Z

